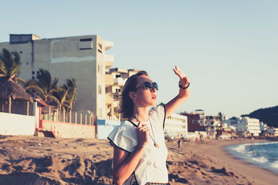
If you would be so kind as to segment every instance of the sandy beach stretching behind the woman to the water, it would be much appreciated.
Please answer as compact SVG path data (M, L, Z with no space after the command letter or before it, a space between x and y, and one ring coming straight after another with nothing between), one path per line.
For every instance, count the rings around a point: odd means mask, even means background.
M231 156L227 145L263 140L167 142L170 184L276 184L278 175ZM112 184L108 140L0 136L0 184Z

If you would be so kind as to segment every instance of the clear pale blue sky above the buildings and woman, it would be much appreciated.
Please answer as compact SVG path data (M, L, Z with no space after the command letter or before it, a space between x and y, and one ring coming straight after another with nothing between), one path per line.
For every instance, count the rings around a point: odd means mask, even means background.
M191 79L181 111L231 116L278 105L278 1L5 1L0 42L100 35L114 66L146 70L158 103L177 95L174 65Z

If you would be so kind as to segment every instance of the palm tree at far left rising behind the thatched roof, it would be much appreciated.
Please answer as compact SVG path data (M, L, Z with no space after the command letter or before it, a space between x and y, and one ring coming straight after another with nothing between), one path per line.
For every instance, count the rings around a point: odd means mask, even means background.
M17 82L17 75L20 72L20 56L15 51L15 54L11 54L8 49L4 48L3 54L0 55L0 77L7 77L8 80L12 79Z

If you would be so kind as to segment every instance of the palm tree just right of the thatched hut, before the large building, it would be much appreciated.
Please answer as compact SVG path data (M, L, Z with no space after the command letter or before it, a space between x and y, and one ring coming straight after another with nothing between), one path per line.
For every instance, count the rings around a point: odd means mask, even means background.
M55 78L52 80L50 72L42 68L39 70L37 79L37 81L33 79L28 81L24 89L27 92L36 93L44 102L47 102L47 104L55 105L57 102L60 102L57 97L54 96L54 93L57 91L59 79Z

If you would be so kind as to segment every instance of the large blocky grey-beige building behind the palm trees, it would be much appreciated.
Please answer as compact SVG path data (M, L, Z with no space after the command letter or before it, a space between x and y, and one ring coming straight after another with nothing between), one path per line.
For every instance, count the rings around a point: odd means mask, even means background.
M19 77L36 79L39 69L51 72L52 77L76 79L77 99L74 111L91 111L98 118L106 112L106 65L113 65L113 56L106 51L113 42L103 40L99 35L82 35L66 38L40 39L33 34L10 35L10 42L0 43L0 49L17 51L22 66Z

